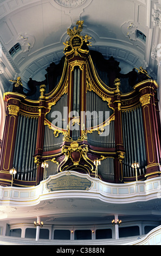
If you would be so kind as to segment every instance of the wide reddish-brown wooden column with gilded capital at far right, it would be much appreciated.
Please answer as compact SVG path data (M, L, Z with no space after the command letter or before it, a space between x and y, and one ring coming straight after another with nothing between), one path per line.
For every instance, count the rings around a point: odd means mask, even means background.
M143 113L144 137L146 147L147 168L145 177L153 178L160 176L160 140L159 124L157 118L156 93L157 84L154 81L141 86L140 102Z

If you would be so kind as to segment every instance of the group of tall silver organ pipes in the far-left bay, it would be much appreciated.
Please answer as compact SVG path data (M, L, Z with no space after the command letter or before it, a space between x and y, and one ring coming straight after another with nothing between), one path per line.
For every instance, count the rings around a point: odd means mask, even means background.
M36 164L33 157L36 148L36 137L37 119L20 115L13 161L13 166L17 170L17 179L36 180Z

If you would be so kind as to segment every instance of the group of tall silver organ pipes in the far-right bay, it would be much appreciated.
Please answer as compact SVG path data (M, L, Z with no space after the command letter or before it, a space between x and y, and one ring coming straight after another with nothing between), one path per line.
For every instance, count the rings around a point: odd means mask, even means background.
M146 152L144 141L144 129L141 108L122 113L124 147L126 150L123 160L124 177L136 176L131 164L139 162L139 174L145 173Z

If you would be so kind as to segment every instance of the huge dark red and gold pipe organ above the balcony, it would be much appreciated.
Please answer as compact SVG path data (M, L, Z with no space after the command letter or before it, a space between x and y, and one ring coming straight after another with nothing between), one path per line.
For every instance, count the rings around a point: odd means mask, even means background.
M95 177L95 160L96 178L105 182L136 180L134 162L138 180L160 176L157 82L142 67L121 74L117 60L90 50L83 21L76 25L44 81L30 80L24 93L18 77L16 90L4 93L2 186L11 185L12 167L14 186L35 186L65 170Z

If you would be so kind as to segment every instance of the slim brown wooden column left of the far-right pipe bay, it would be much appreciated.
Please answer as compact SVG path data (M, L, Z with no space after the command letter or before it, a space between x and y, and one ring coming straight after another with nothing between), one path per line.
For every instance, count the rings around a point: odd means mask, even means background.
M115 131L115 151L117 157L115 157L115 182L123 181L123 159L125 155L124 143L123 143L123 126L122 126L122 117L121 117L121 96L120 96L120 80L117 78L114 81L114 86L116 90L114 91L114 131Z

